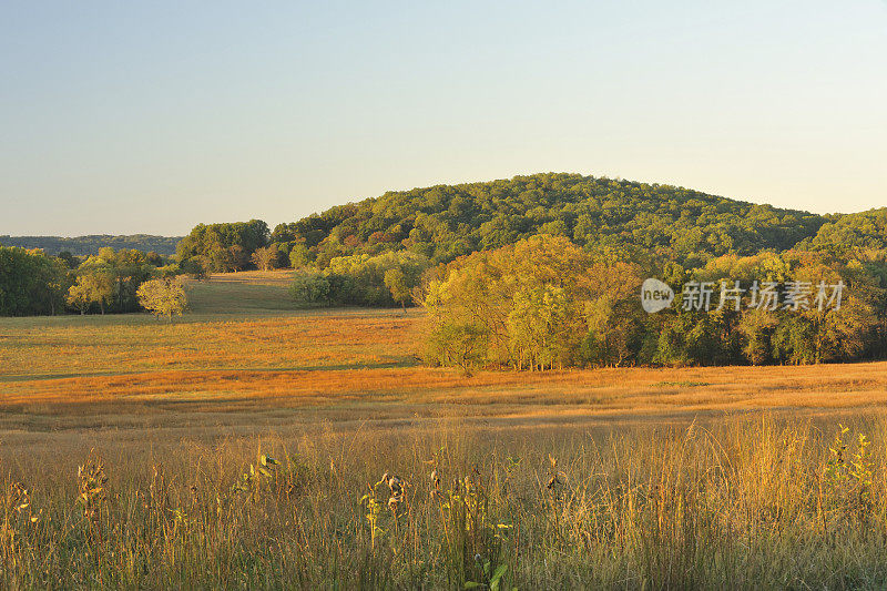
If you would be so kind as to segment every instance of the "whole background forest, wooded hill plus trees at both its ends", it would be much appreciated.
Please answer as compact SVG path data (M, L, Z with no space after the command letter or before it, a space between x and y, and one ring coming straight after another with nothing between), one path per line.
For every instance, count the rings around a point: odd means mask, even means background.
M844 257L887 248L887 208L817 215L670 185L579 174L389 192L279 224L198 225L182 240L184 269L326 271L334 259L410 252L434 264L544 234L624 261L687 267L725 255L792 248Z

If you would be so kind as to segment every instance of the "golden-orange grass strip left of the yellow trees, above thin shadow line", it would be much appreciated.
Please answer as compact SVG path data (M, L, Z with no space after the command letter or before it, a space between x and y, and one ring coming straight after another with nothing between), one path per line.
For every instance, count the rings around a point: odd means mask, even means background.
M414 363L399 313L323 312L165 324L144 315L0 320L0 381L156 369Z

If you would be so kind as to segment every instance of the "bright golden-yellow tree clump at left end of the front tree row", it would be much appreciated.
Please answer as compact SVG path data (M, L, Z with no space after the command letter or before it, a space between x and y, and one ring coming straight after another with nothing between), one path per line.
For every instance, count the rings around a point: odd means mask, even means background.
M630 296L636 265L595 261L560 236L533 236L479 252L430 274L429 361L475 367L548 369L587 365L592 330L604 343L600 355L624 360L632 353Z

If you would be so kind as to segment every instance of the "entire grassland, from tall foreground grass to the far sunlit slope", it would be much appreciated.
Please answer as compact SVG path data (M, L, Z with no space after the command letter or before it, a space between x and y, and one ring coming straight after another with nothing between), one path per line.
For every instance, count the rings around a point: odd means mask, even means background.
M287 283L0 319L6 587L887 584L887 364L463 377Z

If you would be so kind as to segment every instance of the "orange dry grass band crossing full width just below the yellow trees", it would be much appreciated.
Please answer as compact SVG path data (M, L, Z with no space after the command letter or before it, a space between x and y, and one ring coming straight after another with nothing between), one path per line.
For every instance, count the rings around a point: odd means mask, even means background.
M174 358L174 350L167 355ZM655 412L675 408L855 408L887 403L887 363L803 367L621 368L544 374L485 371L462 377L449 369L355 368L326 351L313 351L316 368L169 369L40 379L7 379L0 405L227 398L284 406L330 405L347 400L514 407L529 414ZM215 356L201 359L216 360ZM261 357L244 365L259 366ZM191 367L170 361L170 365ZM328 364L324 366L324 364ZM211 365L211 364L207 364ZM130 367L136 367L133 364ZM359 368L364 367L364 368ZM467 410L466 412L470 412Z

